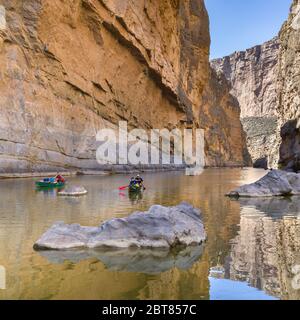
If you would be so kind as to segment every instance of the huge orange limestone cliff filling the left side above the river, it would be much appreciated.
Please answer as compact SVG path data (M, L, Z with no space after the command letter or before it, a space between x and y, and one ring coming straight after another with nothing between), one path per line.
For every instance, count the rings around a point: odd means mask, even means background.
M99 169L96 132L119 120L201 127L207 165L242 165L209 45L202 0L1 0L0 171Z

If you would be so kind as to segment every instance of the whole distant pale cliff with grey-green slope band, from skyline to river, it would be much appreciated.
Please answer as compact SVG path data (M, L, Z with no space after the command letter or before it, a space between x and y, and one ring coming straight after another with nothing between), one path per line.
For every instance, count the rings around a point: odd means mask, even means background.
M212 67L230 82L231 93L241 107L247 146L255 166L273 162L276 141L279 40L211 61Z

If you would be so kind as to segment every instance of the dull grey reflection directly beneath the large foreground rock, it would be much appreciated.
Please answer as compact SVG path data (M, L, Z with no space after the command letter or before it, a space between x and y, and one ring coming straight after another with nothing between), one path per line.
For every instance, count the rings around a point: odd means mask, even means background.
M78 263L86 259L97 259L107 269L124 272L142 272L159 274L173 268L188 270L199 260L203 246L189 246L180 250L125 248L118 250L46 250L40 255L51 263L62 264L65 261Z

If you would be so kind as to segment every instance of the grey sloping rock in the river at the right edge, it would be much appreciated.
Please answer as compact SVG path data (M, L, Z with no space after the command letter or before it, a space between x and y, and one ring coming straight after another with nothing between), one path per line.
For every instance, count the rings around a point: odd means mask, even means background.
M300 195L300 174L280 170L227 194L229 197L272 197Z

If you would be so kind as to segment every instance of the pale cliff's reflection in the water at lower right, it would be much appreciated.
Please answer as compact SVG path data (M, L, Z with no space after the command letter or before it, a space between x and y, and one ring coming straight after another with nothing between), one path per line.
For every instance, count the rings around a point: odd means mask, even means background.
M243 199L225 277L281 299L300 299L300 199ZM298 274L299 273L299 274Z

